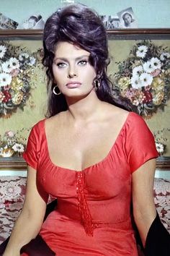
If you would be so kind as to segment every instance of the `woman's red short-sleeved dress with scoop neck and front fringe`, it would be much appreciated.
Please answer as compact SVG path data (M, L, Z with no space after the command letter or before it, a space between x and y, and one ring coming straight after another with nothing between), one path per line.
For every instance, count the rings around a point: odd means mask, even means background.
M40 231L50 249L57 256L137 256L130 216L131 174L157 156L145 121L130 112L102 161L83 171L63 168L50 160L45 120L38 122L24 159L37 170L42 198L58 199Z

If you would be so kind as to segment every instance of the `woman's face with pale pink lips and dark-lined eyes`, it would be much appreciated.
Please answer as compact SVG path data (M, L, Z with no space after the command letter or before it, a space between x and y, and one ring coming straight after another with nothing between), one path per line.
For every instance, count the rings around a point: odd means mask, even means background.
M53 59L54 82L66 97L88 95L96 77L89 63L89 51L73 43L59 42Z

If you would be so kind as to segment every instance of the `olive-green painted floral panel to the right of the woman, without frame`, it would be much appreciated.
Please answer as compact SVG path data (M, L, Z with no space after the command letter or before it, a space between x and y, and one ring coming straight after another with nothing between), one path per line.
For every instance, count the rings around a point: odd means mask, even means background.
M158 152L169 156L170 39L110 37L109 57L108 74L117 102L146 119Z

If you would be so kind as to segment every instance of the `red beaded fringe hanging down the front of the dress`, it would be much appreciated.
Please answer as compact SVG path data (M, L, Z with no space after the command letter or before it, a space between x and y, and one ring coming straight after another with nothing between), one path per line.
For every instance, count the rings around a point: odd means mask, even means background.
M84 230L88 236L93 236L96 225L92 222L91 213L86 202L84 192L84 173L82 171L77 172L76 192L78 196L78 209L81 214L81 221L84 225Z

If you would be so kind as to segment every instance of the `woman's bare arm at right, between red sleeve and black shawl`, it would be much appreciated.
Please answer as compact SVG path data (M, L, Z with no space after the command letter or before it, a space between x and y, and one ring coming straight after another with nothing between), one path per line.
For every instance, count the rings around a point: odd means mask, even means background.
M133 173L133 215L143 246L151 223L156 218L153 200L153 182L156 160L151 159Z

